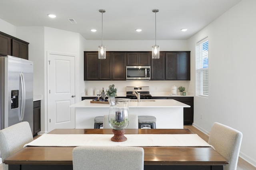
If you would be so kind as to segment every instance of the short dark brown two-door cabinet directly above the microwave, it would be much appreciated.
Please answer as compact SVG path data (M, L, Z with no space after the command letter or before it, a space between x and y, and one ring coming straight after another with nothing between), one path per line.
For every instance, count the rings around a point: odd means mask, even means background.
M151 52L127 52L128 66L150 66Z

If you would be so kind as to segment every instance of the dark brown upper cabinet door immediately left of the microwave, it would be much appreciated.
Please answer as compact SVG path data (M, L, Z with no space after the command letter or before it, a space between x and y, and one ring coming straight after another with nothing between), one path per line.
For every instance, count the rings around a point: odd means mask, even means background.
M126 53L112 53L112 80L126 80Z

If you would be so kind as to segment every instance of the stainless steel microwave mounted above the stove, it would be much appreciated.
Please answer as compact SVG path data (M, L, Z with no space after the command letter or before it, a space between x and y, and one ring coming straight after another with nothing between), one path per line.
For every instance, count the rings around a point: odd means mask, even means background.
M126 66L126 80L150 80L150 66Z

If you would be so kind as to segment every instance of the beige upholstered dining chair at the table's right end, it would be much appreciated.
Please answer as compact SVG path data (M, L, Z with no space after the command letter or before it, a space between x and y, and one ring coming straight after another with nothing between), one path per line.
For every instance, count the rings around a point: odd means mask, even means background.
M210 131L208 143L229 161L228 165L224 165L224 170L236 170L242 143L240 131L215 122Z

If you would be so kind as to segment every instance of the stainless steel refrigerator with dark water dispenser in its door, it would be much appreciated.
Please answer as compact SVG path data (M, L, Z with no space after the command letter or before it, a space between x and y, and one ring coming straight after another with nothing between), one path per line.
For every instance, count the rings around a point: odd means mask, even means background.
M0 57L0 128L22 121L33 132L33 62Z

